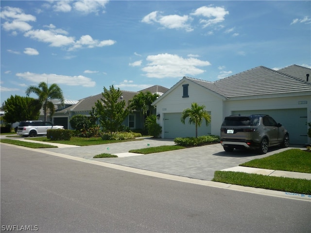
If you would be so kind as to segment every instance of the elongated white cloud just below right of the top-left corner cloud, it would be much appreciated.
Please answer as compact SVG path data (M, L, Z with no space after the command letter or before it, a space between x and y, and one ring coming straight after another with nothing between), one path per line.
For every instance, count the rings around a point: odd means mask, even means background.
M41 42L50 43L50 46L52 47L67 46L74 43L73 37L46 30L32 30L26 32L24 36L36 39Z

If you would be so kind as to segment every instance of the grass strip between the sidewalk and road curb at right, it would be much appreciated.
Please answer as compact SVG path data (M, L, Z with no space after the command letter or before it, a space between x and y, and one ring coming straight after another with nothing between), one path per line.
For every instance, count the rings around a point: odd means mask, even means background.
M212 181L311 195L311 181L234 171L215 171Z

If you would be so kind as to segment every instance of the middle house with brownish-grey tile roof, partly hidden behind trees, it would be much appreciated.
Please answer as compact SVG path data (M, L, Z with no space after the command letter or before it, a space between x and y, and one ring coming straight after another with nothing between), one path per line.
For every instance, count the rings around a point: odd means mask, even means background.
M159 85L154 85L138 92L121 90L122 96L119 101L125 100L125 106L127 107L128 101L131 100L139 92L150 91L153 94L157 93L159 94L159 96L161 96L167 90L169 89ZM55 112L53 115L53 123L55 125L63 125L65 129L72 129L69 123L70 118L75 115L90 116L92 107L94 107L97 100L101 100L101 98L103 98L102 93L95 96L89 96L82 100L79 100L76 104L69 106L68 108ZM144 126L144 117L140 112L134 111L125 118L123 124L130 129L142 129Z

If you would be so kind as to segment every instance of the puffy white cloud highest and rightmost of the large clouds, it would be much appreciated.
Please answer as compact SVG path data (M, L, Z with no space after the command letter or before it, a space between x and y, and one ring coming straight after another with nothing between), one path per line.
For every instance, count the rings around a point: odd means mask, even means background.
M220 23L225 20L225 15L229 14L223 7L202 6L194 11L191 15L207 17L208 19L200 19L203 28Z

